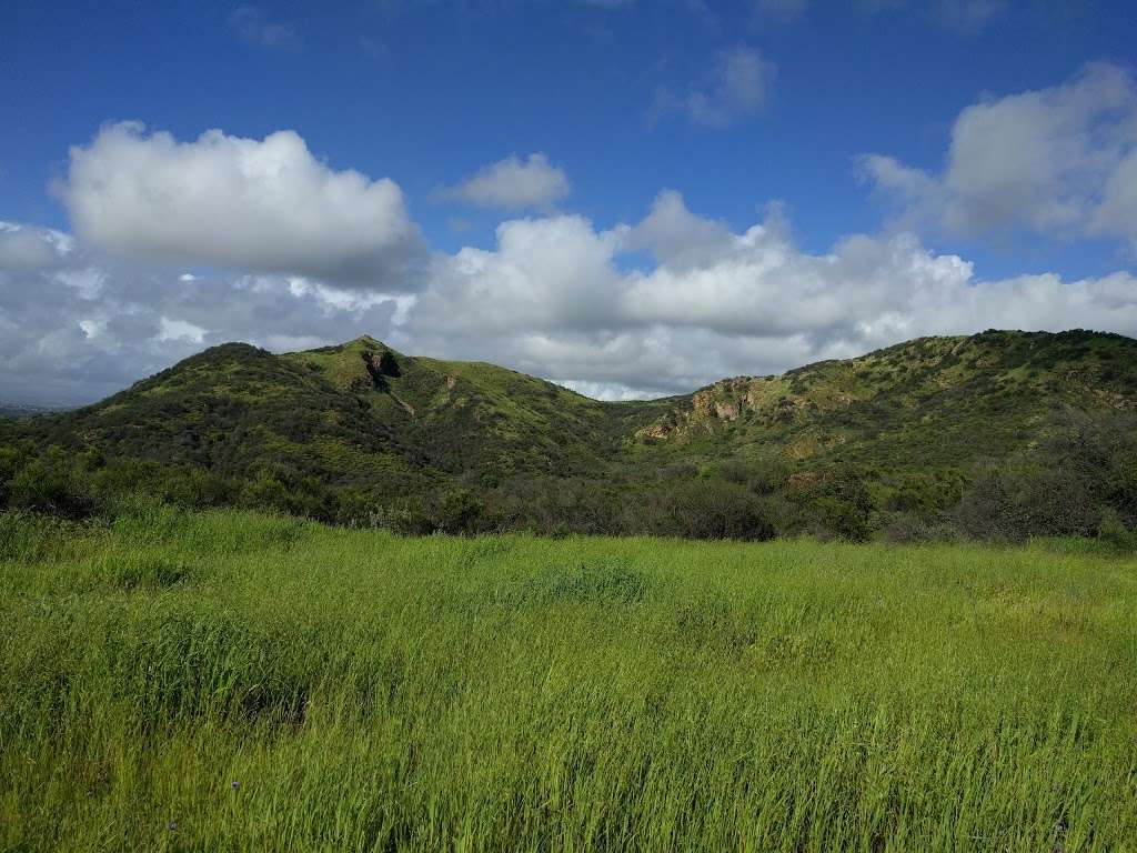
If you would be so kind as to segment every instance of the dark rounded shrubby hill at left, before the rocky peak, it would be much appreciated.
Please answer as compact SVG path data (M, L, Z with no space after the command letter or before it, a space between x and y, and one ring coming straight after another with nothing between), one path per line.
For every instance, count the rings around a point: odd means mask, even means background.
M68 450L239 480L282 466L301 478L368 482L395 495L430 488L442 477L354 397L246 343L213 347L99 404L17 429Z

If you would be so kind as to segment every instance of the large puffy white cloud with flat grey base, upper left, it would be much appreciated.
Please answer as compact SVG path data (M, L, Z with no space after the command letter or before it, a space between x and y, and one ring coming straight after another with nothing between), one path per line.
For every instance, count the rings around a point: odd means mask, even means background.
M110 125L72 148L58 190L80 239L106 252L372 290L416 285L421 239L399 187L330 168L292 131L179 142Z

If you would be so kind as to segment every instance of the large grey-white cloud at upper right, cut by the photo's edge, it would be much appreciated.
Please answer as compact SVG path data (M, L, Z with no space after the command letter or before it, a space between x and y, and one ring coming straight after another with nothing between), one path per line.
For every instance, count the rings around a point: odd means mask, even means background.
M1117 237L1137 248L1137 83L1114 65L968 107L939 174L882 155L861 162L906 224Z

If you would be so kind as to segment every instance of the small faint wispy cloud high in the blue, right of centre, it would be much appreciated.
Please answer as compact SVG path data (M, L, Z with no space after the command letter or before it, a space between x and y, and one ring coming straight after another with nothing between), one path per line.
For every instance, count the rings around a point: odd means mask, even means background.
M725 127L762 111L777 74L777 66L756 48L720 51L704 80L684 94L661 91L652 117L679 114L696 124Z

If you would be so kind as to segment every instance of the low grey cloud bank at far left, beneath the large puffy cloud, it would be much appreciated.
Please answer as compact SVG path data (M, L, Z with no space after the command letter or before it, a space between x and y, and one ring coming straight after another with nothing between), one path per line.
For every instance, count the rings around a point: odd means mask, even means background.
M389 333L402 297L298 276L194 276L92 254L58 232L0 223L0 399L89 403L205 347L300 349Z

